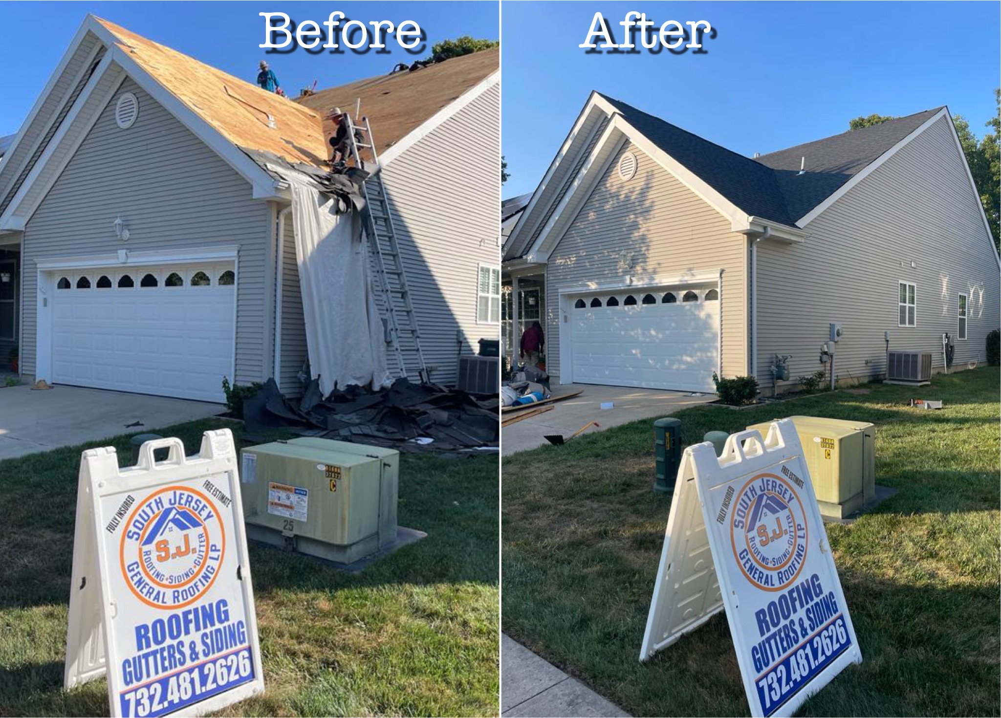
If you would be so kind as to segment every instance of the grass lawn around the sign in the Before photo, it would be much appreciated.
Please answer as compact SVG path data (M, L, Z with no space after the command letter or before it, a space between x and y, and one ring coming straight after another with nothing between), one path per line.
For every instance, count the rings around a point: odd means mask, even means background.
M206 420L161 430L198 451ZM128 436L98 443L129 456ZM94 446L94 445L91 445ZM80 447L0 462L0 716L107 715L62 691ZM223 715L496 715L497 461L402 457L399 523L427 538L349 576L251 546L266 693Z

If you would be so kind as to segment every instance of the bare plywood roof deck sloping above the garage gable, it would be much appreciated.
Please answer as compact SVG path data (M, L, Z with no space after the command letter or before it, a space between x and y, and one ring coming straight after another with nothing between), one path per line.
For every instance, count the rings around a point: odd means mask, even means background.
M328 157L320 117L309 108L112 22L97 21L142 69L234 145L314 166Z

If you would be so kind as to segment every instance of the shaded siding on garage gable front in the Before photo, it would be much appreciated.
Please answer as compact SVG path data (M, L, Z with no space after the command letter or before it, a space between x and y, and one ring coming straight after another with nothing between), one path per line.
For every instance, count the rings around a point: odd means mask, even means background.
M126 91L138 98L139 115L123 130L115 124L114 106ZM131 234L127 244L115 237L112 224L119 215ZM270 350L265 340L269 215L267 202L251 199L248 182L126 79L25 228L25 374L35 370L36 259L236 244L235 379L261 381L264 352Z

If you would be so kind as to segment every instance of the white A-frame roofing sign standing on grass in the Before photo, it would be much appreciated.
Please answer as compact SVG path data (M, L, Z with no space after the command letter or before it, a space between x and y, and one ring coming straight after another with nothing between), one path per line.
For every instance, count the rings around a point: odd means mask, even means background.
M112 716L202 715L263 692L228 429L187 458L178 439L146 442L122 470L113 448L83 453L64 686L102 675Z

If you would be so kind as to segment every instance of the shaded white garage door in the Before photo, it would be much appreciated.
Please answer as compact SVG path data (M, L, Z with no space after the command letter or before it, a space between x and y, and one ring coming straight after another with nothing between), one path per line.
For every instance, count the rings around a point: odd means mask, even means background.
M58 271L51 285L55 384L223 401L232 262Z

